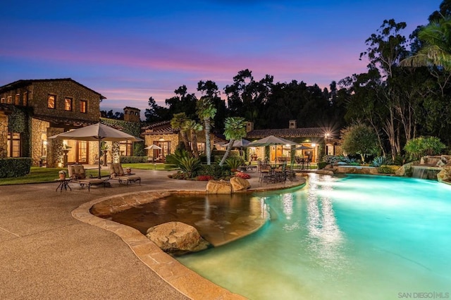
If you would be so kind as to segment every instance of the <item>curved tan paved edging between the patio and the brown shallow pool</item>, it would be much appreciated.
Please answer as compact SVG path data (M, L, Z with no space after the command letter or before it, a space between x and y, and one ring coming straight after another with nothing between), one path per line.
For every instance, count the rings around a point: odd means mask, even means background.
M155 191L152 191L155 192ZM173 191L177 193L177 191ZM138 192L139 193L139 192ZM155 192L161 194L159 192ZM116 196L132 195L127 193ZM195 273L175 258L163 252L141 232L132 227L99 218L89 212L94 204L111 199L112 196L89 201L72 211L73 218L89 225L97 226L118 235L144 265L153 270L161 279L168 282L178 292L191 299L246 299L244 296L234 294L206 278Z

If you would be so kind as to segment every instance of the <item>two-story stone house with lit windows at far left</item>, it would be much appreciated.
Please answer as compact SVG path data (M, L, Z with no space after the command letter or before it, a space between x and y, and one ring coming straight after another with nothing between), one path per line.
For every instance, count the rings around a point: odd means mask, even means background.
M0 157L31 157L32 165L47 161L61 166L62 141L47 137L99 122L106 99L70 78L18 80L0 87ZM98 146L65 141L68 161L94 163Z

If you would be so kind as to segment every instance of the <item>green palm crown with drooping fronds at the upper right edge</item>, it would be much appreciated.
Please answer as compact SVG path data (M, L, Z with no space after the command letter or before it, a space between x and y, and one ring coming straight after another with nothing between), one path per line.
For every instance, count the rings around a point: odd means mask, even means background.
M400 64L410 67L437 65L451 71L451 18L447 16L438 22L429 23L421 28L418 38L424 46Z

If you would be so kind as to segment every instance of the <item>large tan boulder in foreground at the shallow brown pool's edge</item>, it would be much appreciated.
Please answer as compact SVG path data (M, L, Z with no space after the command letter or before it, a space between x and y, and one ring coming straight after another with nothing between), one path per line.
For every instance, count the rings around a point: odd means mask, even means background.
M181 222L150 227L146 236L161 250L172 254L201 251L210 246L196 228Z

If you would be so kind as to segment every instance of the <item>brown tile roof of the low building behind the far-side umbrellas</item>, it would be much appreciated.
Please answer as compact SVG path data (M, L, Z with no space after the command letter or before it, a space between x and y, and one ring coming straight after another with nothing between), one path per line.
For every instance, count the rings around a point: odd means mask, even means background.
M280 128L280 129L257 129L247 132L247 139L261 139L273 135L275 137L324 137L327 132L324 127L311 128Z

